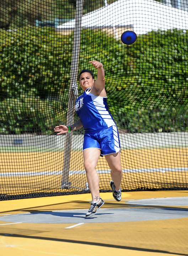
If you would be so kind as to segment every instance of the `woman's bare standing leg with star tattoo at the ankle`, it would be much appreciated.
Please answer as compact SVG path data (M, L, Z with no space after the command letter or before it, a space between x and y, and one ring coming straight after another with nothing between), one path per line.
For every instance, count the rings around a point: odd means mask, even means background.
M97 148L88 148L83 151L84 167L93 202L97 202L100 198L99 177L96 171L96 165L100 154L101 150Z

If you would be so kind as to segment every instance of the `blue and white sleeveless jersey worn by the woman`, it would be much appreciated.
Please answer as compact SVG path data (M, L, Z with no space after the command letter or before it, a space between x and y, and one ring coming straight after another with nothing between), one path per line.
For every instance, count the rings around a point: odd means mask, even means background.
M108 110L107 97L95 96L89 92L90 89L86 89L77 98L75 111L83 124L85 133L97 133L116 123Z

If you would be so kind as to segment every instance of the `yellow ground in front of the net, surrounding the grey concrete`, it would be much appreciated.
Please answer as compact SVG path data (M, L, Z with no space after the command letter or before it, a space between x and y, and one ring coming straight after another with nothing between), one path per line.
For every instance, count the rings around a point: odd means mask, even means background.
M188 191L123 192L122 201L112 193L101 193L106 208L130 208L129 200L188 197ZM0 216L53 210L83 209L87 212L90 194L20 199L0 202ZM148 207L151 206L138 206ZM160 206L155 206L159 207ZM188 206L163 206L187 211ZM101 209L100 209L101 210ZM99 210L99 211L100 211ZM99 218L99 217L97 217ZM108 218L108 217L107 217ZM81 220L80 220L81 222ZM75 223L76 224L76 223ZM170 256L188 255L188 218L135 222L10 223L0 220L0 252L7 256Z

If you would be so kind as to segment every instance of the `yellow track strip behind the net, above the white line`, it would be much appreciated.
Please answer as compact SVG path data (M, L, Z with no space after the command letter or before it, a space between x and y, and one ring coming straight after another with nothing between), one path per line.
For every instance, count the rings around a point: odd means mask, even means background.
M123 169L173 168L188 166L187 148L127 149L121 150ZM33 171L63 169L63 152L0 152L0 170ZM106 169L104 158L98 161L97 169ZM82 151L72 151L70 170L84 170Z

